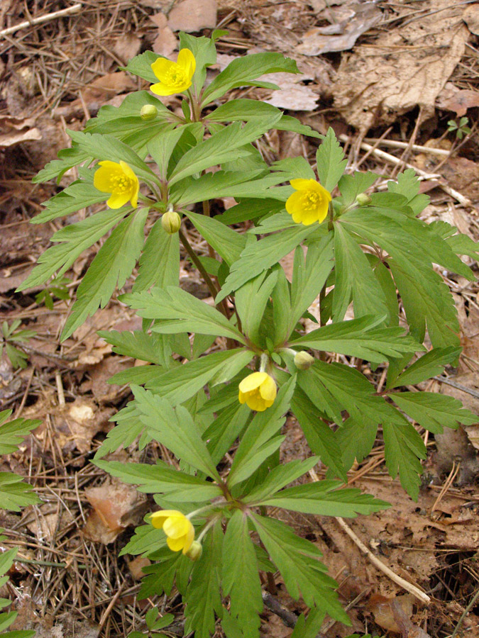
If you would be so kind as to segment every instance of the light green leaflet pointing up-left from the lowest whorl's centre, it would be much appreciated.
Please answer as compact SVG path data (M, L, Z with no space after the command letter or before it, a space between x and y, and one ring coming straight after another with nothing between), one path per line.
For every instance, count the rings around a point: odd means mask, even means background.
M163 443L179 459L220 482L207 446L188 410L182 405L173 409L165 398L139 386L131 389L141 413L140 420L150 436Z

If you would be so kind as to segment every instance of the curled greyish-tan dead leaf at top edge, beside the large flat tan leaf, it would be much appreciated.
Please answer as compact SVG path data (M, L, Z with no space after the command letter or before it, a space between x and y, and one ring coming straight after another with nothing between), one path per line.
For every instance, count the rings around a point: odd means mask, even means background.
M331 24L304 33L302 43L298 45L296 52L303 55L321 55L351 49L360 35L380 22L382 12L374 2L364 2L347 8L341 7L340 11L329 9L326 17Z

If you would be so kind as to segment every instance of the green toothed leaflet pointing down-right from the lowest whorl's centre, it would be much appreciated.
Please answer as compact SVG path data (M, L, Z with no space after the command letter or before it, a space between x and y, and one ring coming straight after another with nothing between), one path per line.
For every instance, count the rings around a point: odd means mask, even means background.
M296 536L279 520L258 515L251 515L251 520L292 598L298 600L302 595L309 607L316 606L349 625L350 620L334 590L336 583L326 575L326 567L318 560L321 557L319 549L312 542Z

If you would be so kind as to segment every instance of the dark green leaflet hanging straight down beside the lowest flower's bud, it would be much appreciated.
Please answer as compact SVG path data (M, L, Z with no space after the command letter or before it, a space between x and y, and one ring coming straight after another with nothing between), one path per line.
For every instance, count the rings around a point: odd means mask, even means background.
M217 522L203 542L203 553L194 564L185 595L185 635L194 631L195 638L209 638L214 633L214 614L221 617L219 589L223 530Z

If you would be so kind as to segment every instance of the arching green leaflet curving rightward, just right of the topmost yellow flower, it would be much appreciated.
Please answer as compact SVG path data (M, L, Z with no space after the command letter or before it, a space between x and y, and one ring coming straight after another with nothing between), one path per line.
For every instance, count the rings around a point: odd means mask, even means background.
M267 73L299 73L296 62L280 53L253 53L236 60L221 71L204 91L202 107L221 97L236 86L263 86L263 82L255 82L257 77Z

